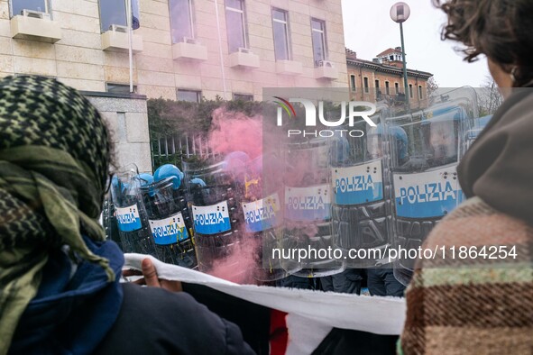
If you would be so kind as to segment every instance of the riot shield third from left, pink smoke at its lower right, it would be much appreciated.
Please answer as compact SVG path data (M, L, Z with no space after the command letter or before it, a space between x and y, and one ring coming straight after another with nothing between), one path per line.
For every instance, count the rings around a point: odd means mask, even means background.
M238 283L250 282L253 265L244 250L242 184L226 161L184 161L198 269Z

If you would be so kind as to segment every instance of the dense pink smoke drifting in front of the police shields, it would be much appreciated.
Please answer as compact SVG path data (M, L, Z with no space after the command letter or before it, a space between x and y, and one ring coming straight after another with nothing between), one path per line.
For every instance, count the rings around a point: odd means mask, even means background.
M209 147L215 154L227 159L225 168L232 170L235 182L244 187L245 200L278 193L280 204L284 205L285 186L310 187L326 182L324 174L327 170L318 167L320 159L317 159L316 150L299 151L294 159L288 161L287 137L280 132L275 127L263 127L261 114L250 117L227 111L224 107L214 111L208 134ZM244 155L249 157L248 162L241 159ZM232 227L244 231L243 225ZM304 244L318 232L316 223L286 221L285 228L294 229L294 238ZM239 245L234 245L224 259L216 260L208 273L239 284L257 283L253 273L262 268L262 259L258 257L261 250L261 238L254 239L244 234Z

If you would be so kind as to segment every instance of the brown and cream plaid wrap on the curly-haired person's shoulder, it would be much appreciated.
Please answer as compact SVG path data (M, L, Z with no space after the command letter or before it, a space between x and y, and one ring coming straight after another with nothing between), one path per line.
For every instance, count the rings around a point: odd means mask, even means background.
M399 353L531 354L532 240L527 223L501 214L479 197L438 223L424 248L444 246L447 253L418 262L406 293ZM461 247L482 254L483 246L484 256L459 254ZM513 251L516 256L504 258Z

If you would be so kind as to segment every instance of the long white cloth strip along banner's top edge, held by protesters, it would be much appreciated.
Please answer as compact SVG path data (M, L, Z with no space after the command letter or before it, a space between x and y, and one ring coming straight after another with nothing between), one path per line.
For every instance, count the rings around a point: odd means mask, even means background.
M160 278L205 285L254 304L286 312L294 318L305 319L308 327L316 326L317 331L321 330L315 334L308 332L308 341L312 343L322 340L316 338L325 336L319 335L324 333L325 328L398 335L405 322L405 299L400 297L357 296L296 288L238 285L199 271L165 264L141 254L125 254L124 267L141 269L142 259L145 258L153 260ZM289 339L292 332L290 328L289 326ZM300 338L300 341L306 340Z

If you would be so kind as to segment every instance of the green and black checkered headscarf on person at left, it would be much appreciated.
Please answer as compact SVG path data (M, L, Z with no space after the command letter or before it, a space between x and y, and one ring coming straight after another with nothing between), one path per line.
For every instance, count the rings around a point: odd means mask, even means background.
M47 77L0 80L0 354L50 250L69 245L115 278L82 239L105 239L97 218L108 161L106 125L78 91Z

